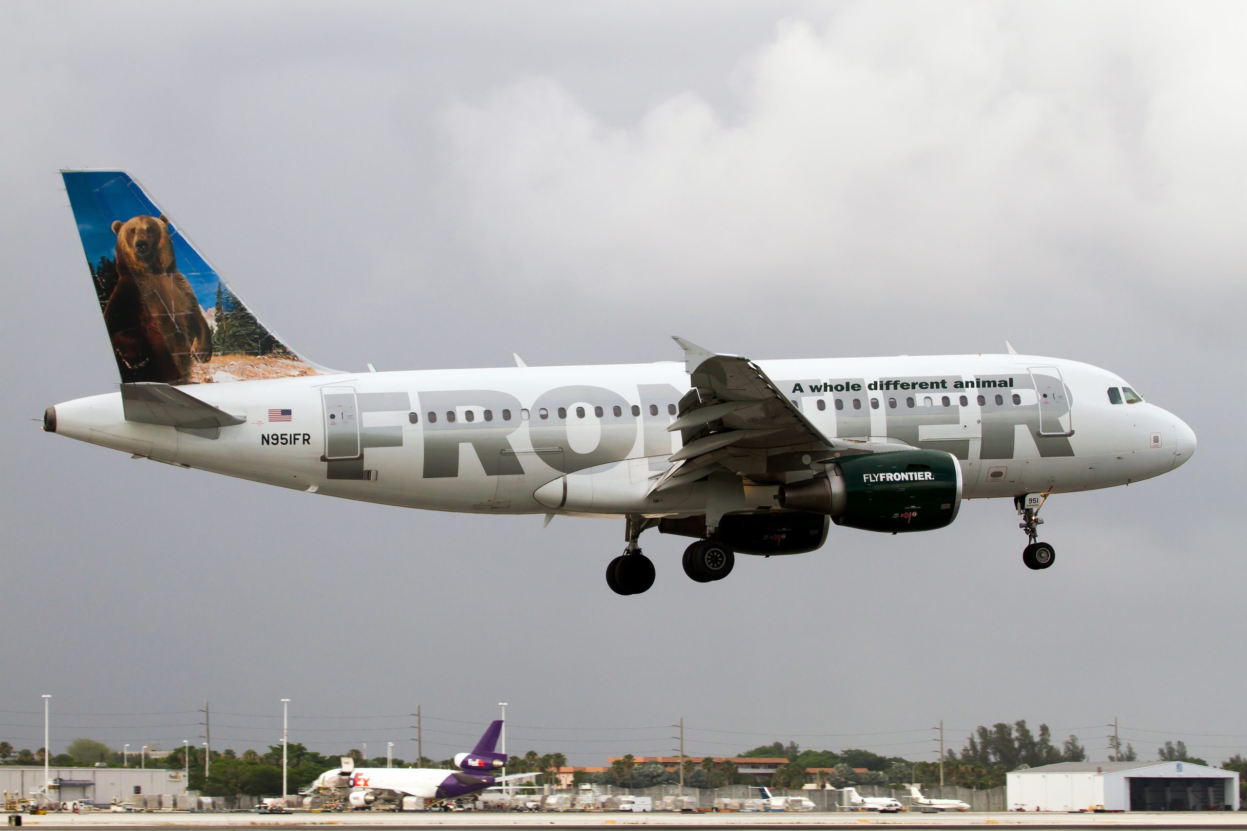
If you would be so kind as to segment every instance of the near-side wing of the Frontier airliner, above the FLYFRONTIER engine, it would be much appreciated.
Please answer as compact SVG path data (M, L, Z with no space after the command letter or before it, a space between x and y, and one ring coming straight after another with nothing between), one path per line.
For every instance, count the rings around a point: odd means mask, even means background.
M667 427L680 430L683 447L671 455L676 464L655 482L651 493L688 484L720 467L766 482L784 469L808 470L806 455L829 459L910 449L897 442L831 438L758 364L742 356L710 352L681 337L673 339L685 351L692 389Z

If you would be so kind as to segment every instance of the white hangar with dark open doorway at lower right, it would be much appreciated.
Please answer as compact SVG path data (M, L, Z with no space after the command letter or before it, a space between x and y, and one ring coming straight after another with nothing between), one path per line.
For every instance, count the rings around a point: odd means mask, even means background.
M1057 762L1005 776L1024 811L1237 811L1238 774L1191 762Z

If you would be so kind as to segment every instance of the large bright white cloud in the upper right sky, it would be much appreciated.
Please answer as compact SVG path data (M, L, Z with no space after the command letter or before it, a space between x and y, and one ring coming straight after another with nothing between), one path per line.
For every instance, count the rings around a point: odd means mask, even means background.
M789 19L737 69L734 106L685 92L621 126L549 77L460 101L440 129L463 232L490 270L539 284L833 282L900 299L932 277L1180 278L1241 302L1238 27L1042 11Z

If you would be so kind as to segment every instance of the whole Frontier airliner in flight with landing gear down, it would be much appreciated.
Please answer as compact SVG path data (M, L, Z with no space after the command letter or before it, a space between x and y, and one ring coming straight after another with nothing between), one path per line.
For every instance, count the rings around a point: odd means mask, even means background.
M1120 376L1019 354L751 361L681 337L682 362L338 372L263 324L123 171L62 171L121 374L42 428L309 494L480 515L624 520L606 583L655 580L646 529L692 538L685 573L821 548L831 525L951 524L1011 499L1028 545L1051 494L1141 482L1196 437ZM839 532L837 532L839 533Z

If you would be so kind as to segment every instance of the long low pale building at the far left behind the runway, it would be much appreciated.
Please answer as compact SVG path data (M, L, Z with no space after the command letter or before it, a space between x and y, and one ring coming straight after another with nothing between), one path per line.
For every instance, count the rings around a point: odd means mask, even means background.
M113 797L132 801L137 795L186 794L181 770L163 767L57 767L47 770L52 787L47 799L54 802L91 800L107 805ZM0 791L30 797L42 790L42 766L0 765Z

